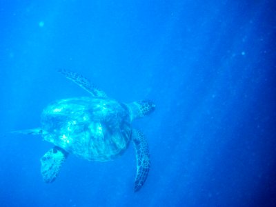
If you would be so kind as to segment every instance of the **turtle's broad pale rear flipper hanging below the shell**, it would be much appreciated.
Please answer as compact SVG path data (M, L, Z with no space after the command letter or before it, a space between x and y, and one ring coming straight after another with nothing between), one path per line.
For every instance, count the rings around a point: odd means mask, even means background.
M52 183L55 181L59 174L61 165L66 161L67 156L68 152L55 146L41 157L41 175L46 183Z

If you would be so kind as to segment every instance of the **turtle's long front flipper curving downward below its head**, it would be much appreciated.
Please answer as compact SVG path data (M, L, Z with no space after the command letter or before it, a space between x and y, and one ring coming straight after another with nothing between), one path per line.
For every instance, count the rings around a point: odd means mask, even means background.
M132 130L132 141L135 145L137 161L137 175L134 186L134 190L137 192L148 177L148 172L150 171L150 153L148 150L148 142L141 131Z

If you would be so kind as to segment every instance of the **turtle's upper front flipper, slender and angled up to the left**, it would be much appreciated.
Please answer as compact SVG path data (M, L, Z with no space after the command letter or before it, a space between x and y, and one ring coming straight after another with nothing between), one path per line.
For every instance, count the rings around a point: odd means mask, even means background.
M88 79L86 79L82 75L79 75L76 72L72 72L64 69L59 70L59 72L61 72L61 74L64 75L66 78L77 83L79 86L81 86L81 88L88 91L93 96L107 97L105 92L103 92L102 90L99 90L99 88L97 88L95 84L91 83Z

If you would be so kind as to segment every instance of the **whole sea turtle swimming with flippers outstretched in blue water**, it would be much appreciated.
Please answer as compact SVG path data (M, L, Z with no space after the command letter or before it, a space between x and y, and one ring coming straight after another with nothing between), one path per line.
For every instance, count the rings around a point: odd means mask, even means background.
M43 180L46 183L55 181L69 154L90 161L110 161L119 157L131 140L137 160L136 192L146 181L150 157L143 133L131 128L130 124L133 119L153 112L155 104L151 101L120 103L107 97L85 77L68 70L59 72L91 96L50 103L42 112L41 128L17 131L42 135L55 145L40 159Z

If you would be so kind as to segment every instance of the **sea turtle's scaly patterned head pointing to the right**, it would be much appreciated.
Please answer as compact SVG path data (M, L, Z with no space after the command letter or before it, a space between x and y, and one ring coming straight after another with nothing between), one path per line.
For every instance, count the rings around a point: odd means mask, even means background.
M155 110L155 103L146 100L135 101L129 103L128 108L130 109L130 118L133 120L152 113Z

